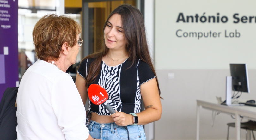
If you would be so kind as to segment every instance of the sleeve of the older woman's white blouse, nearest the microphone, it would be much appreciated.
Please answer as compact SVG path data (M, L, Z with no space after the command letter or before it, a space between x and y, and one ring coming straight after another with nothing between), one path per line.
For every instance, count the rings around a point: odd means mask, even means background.
M66 140L87 139L85 108L71 76L62 76L52 87L52 108Z

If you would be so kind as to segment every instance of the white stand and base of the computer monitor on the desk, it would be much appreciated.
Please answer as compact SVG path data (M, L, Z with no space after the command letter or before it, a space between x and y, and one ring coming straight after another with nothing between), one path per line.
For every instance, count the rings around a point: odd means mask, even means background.
M232 76L226 77L226 104L227 106L244 106L245 104L232 104Z

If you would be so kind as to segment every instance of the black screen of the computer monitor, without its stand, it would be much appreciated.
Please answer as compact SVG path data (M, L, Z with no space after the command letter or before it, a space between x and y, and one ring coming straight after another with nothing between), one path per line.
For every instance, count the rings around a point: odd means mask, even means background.
M250 92L247 64L230 64L232 90Z

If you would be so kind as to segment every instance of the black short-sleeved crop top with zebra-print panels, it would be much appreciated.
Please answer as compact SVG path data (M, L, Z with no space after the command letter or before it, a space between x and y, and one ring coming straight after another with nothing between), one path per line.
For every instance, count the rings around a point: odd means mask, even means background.
M93 58L83 60L77 73L85 78L93 61ZM132 66L131 64L129 59L116 66L108 66L101 61L101 71L91 83L98 84L107 90L108 102L114 110L127 114L140 112L140 85L156 77L149 64L141 59ZM99 115L111 115L102 104L95 105L90 100L89 110Z

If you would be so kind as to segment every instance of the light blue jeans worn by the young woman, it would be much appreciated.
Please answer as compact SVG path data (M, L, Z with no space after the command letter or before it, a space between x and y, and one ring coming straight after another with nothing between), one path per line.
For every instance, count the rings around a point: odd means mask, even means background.
M90 121L87 126L93 138L102 140L128 140L127 130L115 123L100 124ZM128 125L130 140L146 140L143 125Z

